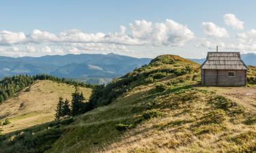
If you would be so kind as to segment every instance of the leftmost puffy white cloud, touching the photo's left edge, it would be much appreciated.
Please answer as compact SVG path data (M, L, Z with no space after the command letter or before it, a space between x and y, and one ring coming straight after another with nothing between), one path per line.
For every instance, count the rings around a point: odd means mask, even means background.
M26 41L25 33L14 33L11 31L0 31L0 45L19 44Z

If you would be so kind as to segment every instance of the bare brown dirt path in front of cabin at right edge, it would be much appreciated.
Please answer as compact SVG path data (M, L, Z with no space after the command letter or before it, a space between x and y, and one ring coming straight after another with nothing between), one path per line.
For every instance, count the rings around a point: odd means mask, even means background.
M197 87L216 92L244 107L256 110L256 87Z

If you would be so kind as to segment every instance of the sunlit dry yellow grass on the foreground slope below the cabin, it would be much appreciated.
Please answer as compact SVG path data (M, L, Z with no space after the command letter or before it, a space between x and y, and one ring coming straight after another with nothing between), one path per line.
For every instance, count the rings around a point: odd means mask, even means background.
M141 89L145 91L145 88L137 88L135 91L131 91L132 95L128 94L122 100L117 100L115 105L117 103L125 103L129 101L128 99L133 99L136 95L134 93L139 93L139 91L142 91ZM221 95L224 95L225 91L227 91L227 88L222 87L196 89L204 89L210 92L214 90L214 92L218 91L217 93ZM241 88L233 88L233 90L229 88L228 91L229 93L236 93L236 89L241 90ZM244 92L255 92L255 88L242 89ZM236 144L229 139L248 133L248 131L256 133L255 125L248 126L243 124L244 117L236 116L235 120L233 120L232 116L227 115L220 125L205 124L205 126L196 126L205 114L216 109L208 103L208 99L205 97L208 94L199 94L199 99L178 109L162 109L165 112L164 117L154 118L145 122L124 133L119 141L106 143L99 148L92 149L91 152L232 152L231 150L240 148L241 144ZM168 100L171 103L171 99L165 99L165 101ZM240 101L240 103L243 102L251 103L251 100ZM246 107L245 112L250 113L251 109ZM255 142L255 137L252 136L250 139L252 143ZM244 140L243 143L248 143L248 140Z

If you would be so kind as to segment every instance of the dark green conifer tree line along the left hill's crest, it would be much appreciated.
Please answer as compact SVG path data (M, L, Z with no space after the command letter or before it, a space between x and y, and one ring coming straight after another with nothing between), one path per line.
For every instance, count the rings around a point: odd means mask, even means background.
M14 75L5 77L0 81L0 103L13 97L17 92L24 88L31 86L36 80L51 80L54 82L70 84L74 86L81 86L86 88L93 88L93 84L86 84L84 82L77 82L66 78L58 78L47 74L38 75Z

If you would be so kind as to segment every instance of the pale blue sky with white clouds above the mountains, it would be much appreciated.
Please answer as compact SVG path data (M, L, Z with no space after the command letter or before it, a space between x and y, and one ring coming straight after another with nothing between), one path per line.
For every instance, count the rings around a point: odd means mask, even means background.
M0 55L255 52L256 1L1 1ZM122 26L122 28L120 28Z

